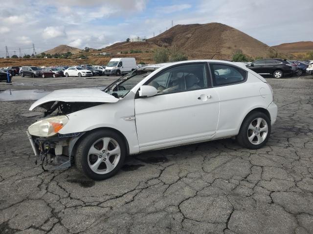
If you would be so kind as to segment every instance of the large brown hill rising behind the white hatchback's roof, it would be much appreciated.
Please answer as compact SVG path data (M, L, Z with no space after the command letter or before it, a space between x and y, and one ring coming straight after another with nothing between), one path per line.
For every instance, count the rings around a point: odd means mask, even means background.
M231 59L240 49L250 57L267 57L270 47L247 34L221 23L176 25L146 42L118 42L103 49L110 53L130 50L153 51L177 46L188 59Z

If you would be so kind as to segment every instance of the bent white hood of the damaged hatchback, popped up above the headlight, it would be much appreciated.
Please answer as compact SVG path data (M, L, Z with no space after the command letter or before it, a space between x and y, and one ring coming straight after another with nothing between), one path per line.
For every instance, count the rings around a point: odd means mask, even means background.
M99 89L78 88L78 89L60 89L51 92L43 98L35 101L29 108L33 110L50 101L65 102L117 102L119 99L107 94Z

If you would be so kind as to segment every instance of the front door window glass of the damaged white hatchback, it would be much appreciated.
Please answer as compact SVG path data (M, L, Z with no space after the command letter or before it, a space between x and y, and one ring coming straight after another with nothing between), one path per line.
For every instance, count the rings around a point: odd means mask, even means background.
M154 86L158 94L172 94L207 88L205 64L191 63L169 68L149 80L146 85Z

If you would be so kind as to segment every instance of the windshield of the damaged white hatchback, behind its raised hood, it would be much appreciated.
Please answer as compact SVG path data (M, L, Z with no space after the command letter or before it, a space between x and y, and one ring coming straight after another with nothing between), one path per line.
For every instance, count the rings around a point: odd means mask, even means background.
M134 70L128 75L115 80L104 92L111 94L115 98L125 97L143 78L147 77L153 71L151 70Z

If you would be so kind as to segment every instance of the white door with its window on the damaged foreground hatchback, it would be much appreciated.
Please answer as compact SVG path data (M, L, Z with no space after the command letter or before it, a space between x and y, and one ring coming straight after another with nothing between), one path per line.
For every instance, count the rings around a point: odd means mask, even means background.
M211 88L205 63L173 66L145 85L158 94L135 99L135 121L140 151L201 141L215 134L219 97Z

